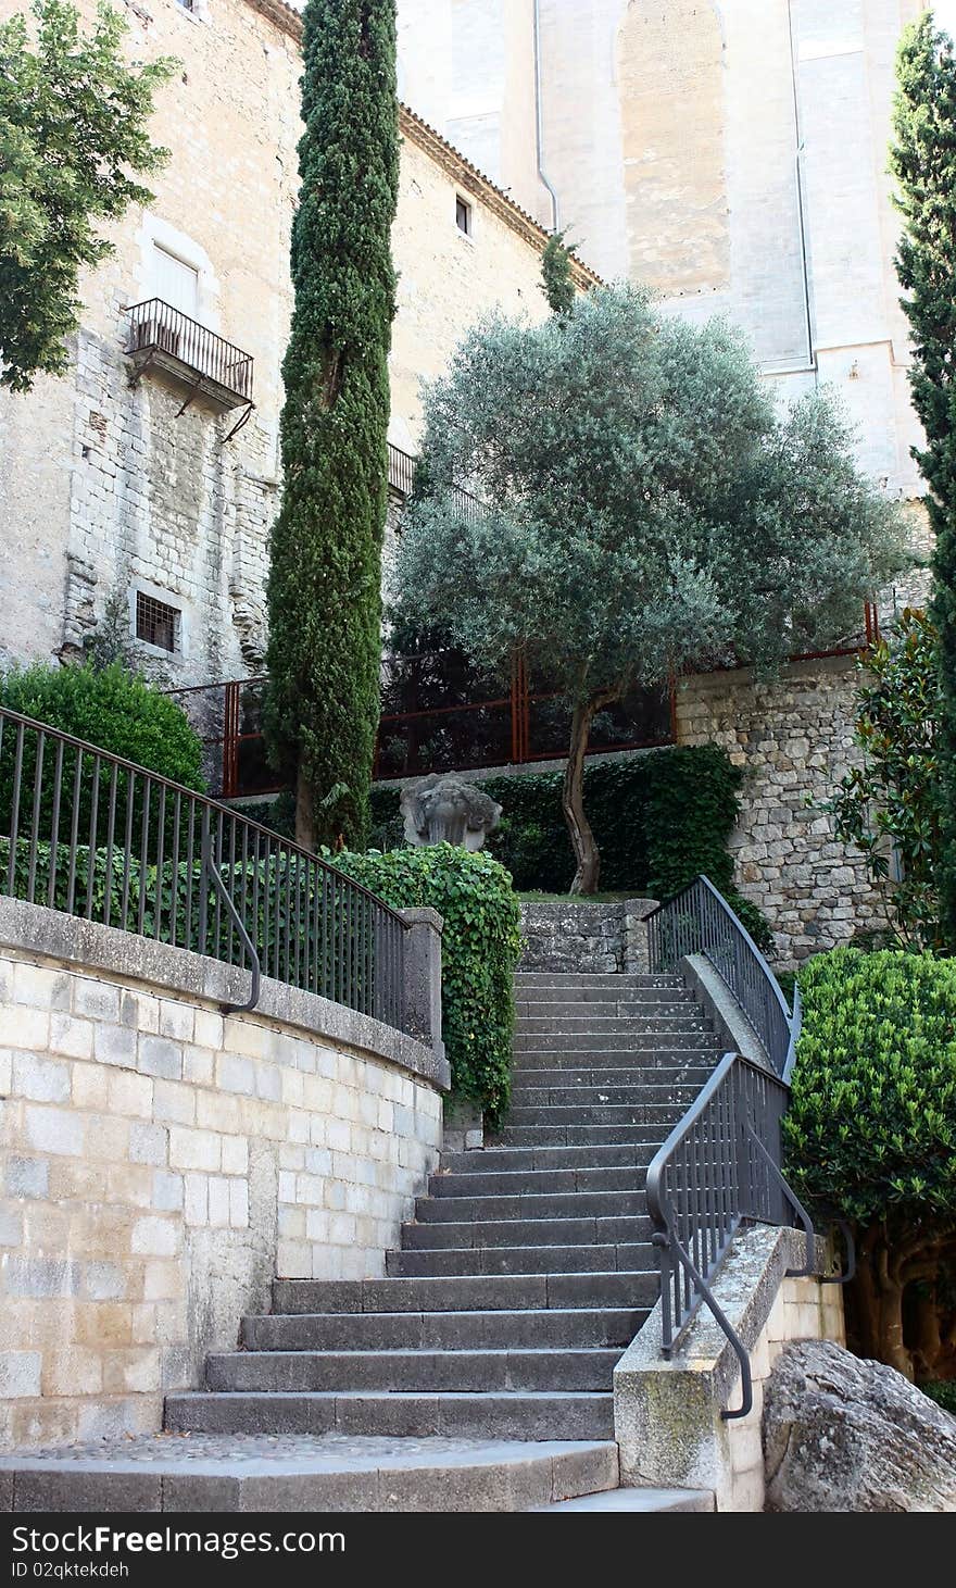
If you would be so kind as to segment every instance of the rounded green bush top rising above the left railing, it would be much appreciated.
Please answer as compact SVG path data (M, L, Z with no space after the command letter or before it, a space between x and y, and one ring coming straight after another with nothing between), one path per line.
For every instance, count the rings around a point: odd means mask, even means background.
M0 705L133 761L172 783L205 789L202 742L186 713L121 662L97 669L37 662L0 678ZM13 734L0 759L0 808L10 800Z

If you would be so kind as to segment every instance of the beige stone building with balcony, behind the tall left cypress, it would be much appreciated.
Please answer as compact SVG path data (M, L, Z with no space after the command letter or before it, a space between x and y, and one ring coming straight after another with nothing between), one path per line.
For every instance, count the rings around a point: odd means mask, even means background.
M170 684L205 684L264 654L300 19L281 0L140 0L127 19L133 56L178 59L152 125L172 157L81 283L70 373L0 394L0 667L106 632ZM400 130L397 494L419 381L484 310L546 313L542 227L413 111Z

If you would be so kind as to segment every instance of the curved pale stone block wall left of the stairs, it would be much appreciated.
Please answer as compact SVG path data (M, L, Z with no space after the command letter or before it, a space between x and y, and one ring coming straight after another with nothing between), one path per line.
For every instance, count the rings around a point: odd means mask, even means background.
M0 1445L156 1429L275 1275L383 1274L446 1078L324 999L264 981L224 1018L235 972L2 904Z

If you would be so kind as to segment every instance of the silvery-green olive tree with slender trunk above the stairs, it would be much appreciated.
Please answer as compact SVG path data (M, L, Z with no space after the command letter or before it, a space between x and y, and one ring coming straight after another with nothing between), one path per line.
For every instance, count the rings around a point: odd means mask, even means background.
M902 519L826 400L778 418L727 326L662 318L632 287L535 327L486 319L427 392L426 421L400 603L502 680L522 649L570 702L572 891L594 892L594 715L684 667L772 667L850 632L900 564ZM484 510L464 513L453 481Z

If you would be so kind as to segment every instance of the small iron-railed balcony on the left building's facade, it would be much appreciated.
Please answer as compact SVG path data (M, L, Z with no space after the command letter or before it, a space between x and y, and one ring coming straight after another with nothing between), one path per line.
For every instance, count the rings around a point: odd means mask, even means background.
M151 370L162 372L186 392L179 413L197 397L219 413L252 408L252 359L248 353L162 299L133 303L125 314L130 322L125 354L133 362L133 384Z

